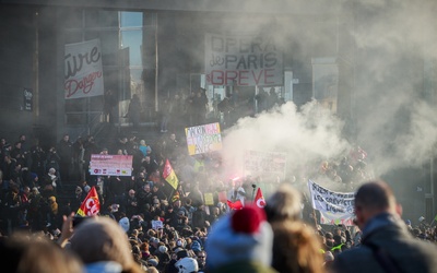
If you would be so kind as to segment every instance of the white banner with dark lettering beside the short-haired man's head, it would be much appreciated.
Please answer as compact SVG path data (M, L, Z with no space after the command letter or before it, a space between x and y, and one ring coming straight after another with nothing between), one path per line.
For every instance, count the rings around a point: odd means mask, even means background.
M320 212L320 224L353 225L354 192L334 192L308 180L312 209Z

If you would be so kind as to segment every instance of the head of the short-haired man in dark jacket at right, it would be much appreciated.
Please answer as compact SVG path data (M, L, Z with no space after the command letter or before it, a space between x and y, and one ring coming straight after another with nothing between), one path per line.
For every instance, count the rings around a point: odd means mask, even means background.
M355 224L363 230L369 219L381 213L402 214L390 186L381 180L361 186L355 193Z

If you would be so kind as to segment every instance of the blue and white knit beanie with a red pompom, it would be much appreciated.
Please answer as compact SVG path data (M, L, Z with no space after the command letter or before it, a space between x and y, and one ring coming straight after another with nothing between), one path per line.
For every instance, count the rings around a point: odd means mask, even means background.
M237 261L257 261L270 266L273 232L263 210L251 205L221 217L206 240L211 269Z

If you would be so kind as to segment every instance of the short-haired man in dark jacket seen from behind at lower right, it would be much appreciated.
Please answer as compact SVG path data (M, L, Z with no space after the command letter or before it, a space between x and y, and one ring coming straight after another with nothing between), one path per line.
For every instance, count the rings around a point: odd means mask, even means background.
M390 186L369 181L355 194L355 223L363 230L362 246L343 251L335 272L435 272L437 247L411 236L401 219L402 207Z

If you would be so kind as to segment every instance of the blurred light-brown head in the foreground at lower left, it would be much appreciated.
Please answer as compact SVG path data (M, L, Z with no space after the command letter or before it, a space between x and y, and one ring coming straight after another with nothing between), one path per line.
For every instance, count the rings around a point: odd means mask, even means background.
M122 272L141 272L133 260L127 234L109 217L93 217L83 222L70 241L71 250L86 266L110 262Z

